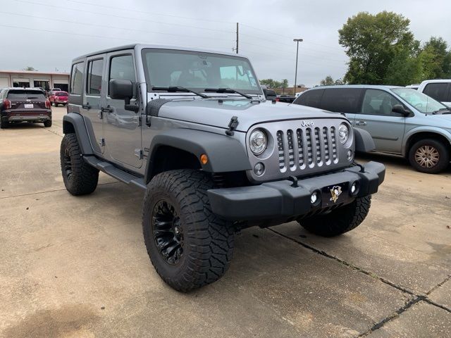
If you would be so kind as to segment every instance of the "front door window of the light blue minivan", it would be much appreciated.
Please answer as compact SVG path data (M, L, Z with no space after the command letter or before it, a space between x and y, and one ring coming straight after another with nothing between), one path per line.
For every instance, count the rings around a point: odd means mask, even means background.
M362 104L362 114L399 116L392 113L392 108L395 104L402 105L395 97L383 90L366 89L364 102Z

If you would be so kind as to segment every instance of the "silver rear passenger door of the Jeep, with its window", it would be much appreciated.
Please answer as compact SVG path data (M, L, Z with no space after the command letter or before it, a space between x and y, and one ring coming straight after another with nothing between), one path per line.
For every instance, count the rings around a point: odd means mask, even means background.
M85 115L85 124L94 151L104 154L104 115L101 112L101 95L105 95L102 86L102 79L105 73L106 54L92 56L86 60L86 80L84 85L84 95L82 112Z

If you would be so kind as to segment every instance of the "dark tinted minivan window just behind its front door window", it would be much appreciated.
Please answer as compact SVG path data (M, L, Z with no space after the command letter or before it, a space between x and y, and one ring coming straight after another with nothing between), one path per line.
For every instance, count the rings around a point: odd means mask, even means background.
M359 113L362 90L359 88L325 89L321 108L335 113Z

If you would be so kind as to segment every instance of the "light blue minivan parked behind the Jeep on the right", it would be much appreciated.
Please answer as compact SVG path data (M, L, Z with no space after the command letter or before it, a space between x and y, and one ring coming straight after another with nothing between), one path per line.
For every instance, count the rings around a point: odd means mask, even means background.
M451 111L414 89L317 87L302 93L294 103L345 113L352 125L371 134L376 151L405 156L423 173L440 173L450 163Z

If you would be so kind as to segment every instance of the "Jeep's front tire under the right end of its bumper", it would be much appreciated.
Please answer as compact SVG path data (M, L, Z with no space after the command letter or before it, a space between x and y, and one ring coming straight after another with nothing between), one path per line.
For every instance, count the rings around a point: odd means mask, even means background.
M368 215L370 206L371 196L358 197L352 203L325 215L299 220L299 224L309 232L319 236L338 236L359 226Z

